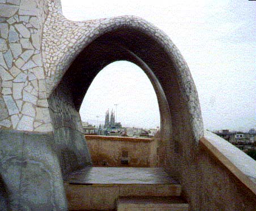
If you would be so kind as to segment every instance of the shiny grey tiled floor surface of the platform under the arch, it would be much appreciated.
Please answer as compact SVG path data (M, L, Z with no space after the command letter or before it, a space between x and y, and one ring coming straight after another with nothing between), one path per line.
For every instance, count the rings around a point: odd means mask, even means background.
M70 184L178 184L161 168L87 167L66 178Z

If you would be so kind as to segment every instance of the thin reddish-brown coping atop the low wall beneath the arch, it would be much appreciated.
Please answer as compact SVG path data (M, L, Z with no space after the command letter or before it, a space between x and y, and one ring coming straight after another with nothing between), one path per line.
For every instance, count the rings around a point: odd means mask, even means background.
M152 138L111 137L107 135L85 135L87 140L115 140L120 142L152 142Z

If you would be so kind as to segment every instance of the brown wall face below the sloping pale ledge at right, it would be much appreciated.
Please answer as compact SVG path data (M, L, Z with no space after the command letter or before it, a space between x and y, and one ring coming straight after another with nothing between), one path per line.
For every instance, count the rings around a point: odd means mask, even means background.
M256 195L203 147L198 160L197 192L203 194L199 198L193 196L191 200L203 201L198 204L200 210L246 211L256 208Z

